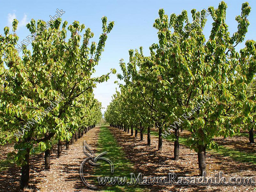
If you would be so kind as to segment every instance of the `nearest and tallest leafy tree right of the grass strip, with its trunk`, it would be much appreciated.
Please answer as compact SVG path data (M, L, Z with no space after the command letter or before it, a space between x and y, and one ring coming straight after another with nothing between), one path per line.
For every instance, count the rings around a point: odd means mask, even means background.
M246 41L240 53L235 49L244 41L251 7L242 4L241 15L236 17L238 30L233 36L225 22L226 9L224 2L217 9L208 8L213 20L208 41L203 34L205 10L191 10L190 23L186 11L178 16L172 14L169 20L161 9L154 23L159 30L159 45L151 46L155 50L151 54L155 54L157 68L163 69L159 75L167 86L164 88L172 90L172 97L176 98L173 101L179 106L173 113L177 117L184 114L182 127L191 132L188 142L197 152L201 175L206 173L206 149L217 148L213 138L234 135L235 125L240 127L247 118L248 114L240 113L239 109L247 98L246 86L255 76L255 42Z

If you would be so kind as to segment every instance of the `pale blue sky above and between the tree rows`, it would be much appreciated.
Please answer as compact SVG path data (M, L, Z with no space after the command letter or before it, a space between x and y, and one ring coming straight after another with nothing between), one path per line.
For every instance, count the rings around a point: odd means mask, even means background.
M245 1L225 1L228 4L226 22L229 26L230 34L237 30L236 15L241 14L241 5ZM256 2L248 1L252 7L250 16L250 26L246 35L247 39L255 40L256 32ZM128 62L129 49L144 48L144 54L148 55L148 47L158 42L157 30L153 28L153 23L158 17L158 10L164 8L166 14L180 14L182 10L188 11L190 21L191 9L202 10L209 6L218 7L220 1L1 1L0 13L0 34L4 34L4 27L11 26L14 18L19 20L17 34L21 40L29 35L26 23L32 18L35 20L50 20L49 15L55 15L56 9L63 10L62 20L67 20L71 24L74 20L84 23L86 28L91 28L94 33L93 41L98 43L101 34L101 17L107 16L108 21L115 21L115 26L108 35L105 51L102 54L99 65L96 67L95 76L106 74L110 68L116 68L117 73L121 73L119 60ZM209 37L212 19L208 21L204 28L206 39ZM30 46L31 47L31 46ZM237 46L237 49L244 47L244 43ZM28 46L29 48L29 46ZM115 93L117 85L116 75L111 75L108 82L101 83L94 90L95 97L102 102L103 107L107 107L111 101L111 96ZM102 111L105 111L103 109Z

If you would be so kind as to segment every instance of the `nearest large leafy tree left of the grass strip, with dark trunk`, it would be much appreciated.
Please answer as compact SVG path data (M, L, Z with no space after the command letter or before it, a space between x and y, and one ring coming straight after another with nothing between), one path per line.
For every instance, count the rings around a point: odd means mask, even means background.
M103 17L103 33L99 43L92 42L90 46L89 40L93 33L78 21L68 26L71 36L66 41L67 21L60 28L59 18L45 29L43 20L36 23L32 19L27 24L31 34L36 34L32 53L24 46L22 58L14 48L18 41L15 33L17 24L18 21L13 20L14 34L10 34L9 27L5 27L4 36L0 36L0 123L4 132L23 132L20 137L6 137L17 142L12 155L22 167L20 186L23 189L28 186L29 153L33 145L39 144L41 150L45 151L46 159L51 148L49 140L54 137L69 140L72 136L70 128L78 127L74 123L76 119L72 119L76 116L74 108L78 107L81 98L88 99L96 83L108 80L110 73L94 78L91 75L95 72L94 66L100 60L107 34L114 22L107 25L107 18ZM36 32L36 28L44 30ZM79 33L83 30L80 46ZM56 103L59 98L62 100ZM67 122L69 119L70 122ZM46 160L45 163L47 167Z

